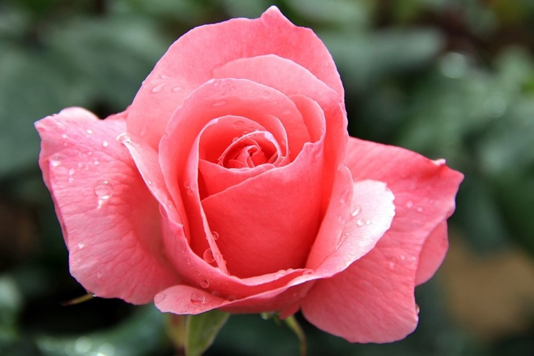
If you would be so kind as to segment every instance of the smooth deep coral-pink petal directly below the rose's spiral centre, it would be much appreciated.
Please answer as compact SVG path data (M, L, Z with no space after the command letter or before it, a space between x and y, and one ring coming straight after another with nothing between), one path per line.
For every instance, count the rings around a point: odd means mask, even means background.
M323 164L313 157L322 148L306 144L291 164L202 201L230 273L246 278L304 266L320 221Z

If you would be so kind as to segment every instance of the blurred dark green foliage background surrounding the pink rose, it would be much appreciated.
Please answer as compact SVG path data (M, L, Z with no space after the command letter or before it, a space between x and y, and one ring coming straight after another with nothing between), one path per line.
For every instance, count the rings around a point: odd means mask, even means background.
M96 298L68 255L33 122L129 105L185 31L276 4L318 33L353 136L464 172L444 266L417 288L419 328L351 345L313 328L310 355L534 355L534 1L0 0L0 355L173 355L153 306ZM206 355L297 355L283 325L235 315Z

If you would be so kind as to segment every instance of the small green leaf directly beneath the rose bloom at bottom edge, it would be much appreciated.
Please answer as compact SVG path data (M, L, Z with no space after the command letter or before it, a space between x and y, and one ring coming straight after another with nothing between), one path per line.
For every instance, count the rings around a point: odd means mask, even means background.
M229 313L220 310L211 310L199 315L188 315L187 338L185 340L186 355L200 356L208 350L229 316Z

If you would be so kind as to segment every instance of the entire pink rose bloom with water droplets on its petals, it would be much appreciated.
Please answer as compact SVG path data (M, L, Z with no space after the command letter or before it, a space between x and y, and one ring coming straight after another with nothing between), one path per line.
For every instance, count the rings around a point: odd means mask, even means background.
M302 310L351 342L402 339L463 176L348 137L343 96L324 44L271 7L179 38L125 112L38 121L70 273L163 312Z

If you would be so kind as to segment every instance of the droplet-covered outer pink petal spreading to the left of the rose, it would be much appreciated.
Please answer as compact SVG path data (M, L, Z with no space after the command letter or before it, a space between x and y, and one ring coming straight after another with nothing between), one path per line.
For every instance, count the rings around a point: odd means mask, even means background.
M147 303L179 278L155 233L157 202L115 140L125 130L124 116L98 120L69 108L38 121L39 164L70 252L70 273L98 296Z

